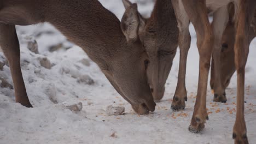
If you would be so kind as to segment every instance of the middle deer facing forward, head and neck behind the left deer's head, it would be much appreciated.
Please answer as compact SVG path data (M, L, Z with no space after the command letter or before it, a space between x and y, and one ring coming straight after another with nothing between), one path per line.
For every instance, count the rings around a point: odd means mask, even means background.
M126 9L132 5L128 0L123 0L123 3ZM172 2L157 0L152 15L145 19L139 14L139 21L139 39L149 56L149 85L154 100L160 100L178 46L179 32Z

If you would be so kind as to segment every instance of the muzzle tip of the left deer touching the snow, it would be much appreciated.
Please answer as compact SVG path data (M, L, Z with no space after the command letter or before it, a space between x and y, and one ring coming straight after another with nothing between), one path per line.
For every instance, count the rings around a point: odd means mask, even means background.
M155 102L145 102L138 105L132 105L132 109L139 115L146 115L149 111L155 111Z

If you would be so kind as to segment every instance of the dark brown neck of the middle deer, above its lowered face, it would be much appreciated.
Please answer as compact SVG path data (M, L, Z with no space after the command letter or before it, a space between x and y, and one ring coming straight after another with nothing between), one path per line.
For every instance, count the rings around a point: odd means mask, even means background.
M178 44L177 19L171 0L157 0L146 29L156 35L158 47L162 50L176 50ZM171 50L170 50L171 49Z

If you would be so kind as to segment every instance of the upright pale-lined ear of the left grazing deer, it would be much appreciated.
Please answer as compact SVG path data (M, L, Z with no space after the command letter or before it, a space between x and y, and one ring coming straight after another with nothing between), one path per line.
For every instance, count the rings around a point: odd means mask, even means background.
M121 29L127 41L137 40L139 29L139 14L136 3L133 3L131 7L125 10L124 16L121 20Z

